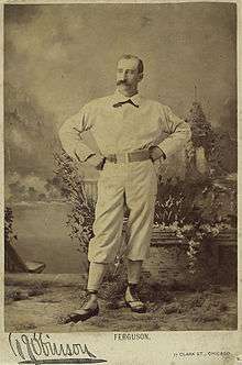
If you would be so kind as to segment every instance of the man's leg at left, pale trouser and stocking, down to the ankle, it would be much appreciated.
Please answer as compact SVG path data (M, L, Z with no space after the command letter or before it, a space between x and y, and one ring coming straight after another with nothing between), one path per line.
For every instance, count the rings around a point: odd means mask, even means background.
M88 290L98 290L107 264L113 263L121 244L124 186L120 166L108 166L98 181L98 201L94 223L95 237L89 243Z

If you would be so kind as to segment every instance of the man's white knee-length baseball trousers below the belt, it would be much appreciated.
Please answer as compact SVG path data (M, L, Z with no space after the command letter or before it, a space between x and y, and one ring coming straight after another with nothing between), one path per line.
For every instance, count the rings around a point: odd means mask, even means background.
M147 256L156 192L157 176L151 159L105 164L98 181L89 262L113 263L121 244L125 204L130 210L125 256L132 261L143 261Z

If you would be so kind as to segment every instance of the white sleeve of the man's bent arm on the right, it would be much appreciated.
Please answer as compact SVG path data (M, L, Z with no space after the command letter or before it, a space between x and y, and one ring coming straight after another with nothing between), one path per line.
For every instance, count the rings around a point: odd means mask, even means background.
M191 137L191 131L188 123L173 113L169 107L165 107L165 132L169 135L162 141L157 147L163 152L164 158L175 154Z

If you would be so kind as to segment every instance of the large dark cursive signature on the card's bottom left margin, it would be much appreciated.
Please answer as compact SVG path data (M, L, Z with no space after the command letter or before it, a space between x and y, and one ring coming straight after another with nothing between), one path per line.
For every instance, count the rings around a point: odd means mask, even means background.
M52 341L50 334L30 333L18 336L10 333L9 345L13 354L20 358L19 364L63 364L64 361L65 364L100 364L107 362L97 358L89 351L86 343L57 344Z

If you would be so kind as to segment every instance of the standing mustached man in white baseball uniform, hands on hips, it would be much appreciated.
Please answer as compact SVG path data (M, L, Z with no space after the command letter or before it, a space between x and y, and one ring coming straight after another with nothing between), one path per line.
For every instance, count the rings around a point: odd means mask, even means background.
M190 139L190 130L168 107L138 92L143 71L140 58L122 56L118 62L116 92L87 103L59 131L63 147L70 157L87 161L100 170L95 236L88 252L88 298L67 321L86 320L99 312L98 290L107 264L114 261L120 245L124 206L130 211L125 302L132 311L145 311L136 286L153 228L157 190L153 163L178 151ZM87 130L91 131L99 153L81 141L80 133Z

